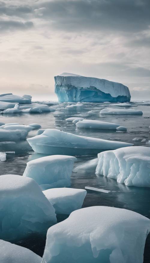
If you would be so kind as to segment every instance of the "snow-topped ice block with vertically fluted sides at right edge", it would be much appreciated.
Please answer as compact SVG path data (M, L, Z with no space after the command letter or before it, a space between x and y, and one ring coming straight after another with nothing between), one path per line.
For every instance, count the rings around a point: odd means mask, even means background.
M96 174L127 186L150 187L150 148L133 146L101 152Z

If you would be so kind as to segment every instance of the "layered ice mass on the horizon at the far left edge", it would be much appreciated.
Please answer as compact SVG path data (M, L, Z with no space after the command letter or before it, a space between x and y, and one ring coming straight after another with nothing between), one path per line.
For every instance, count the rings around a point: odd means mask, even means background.
M23 95L17 96L13 95L12 93L6 93L6 94L0 94L0 101L4 102L18 102L21 104L30 104L31 103L32 96L29 95Z

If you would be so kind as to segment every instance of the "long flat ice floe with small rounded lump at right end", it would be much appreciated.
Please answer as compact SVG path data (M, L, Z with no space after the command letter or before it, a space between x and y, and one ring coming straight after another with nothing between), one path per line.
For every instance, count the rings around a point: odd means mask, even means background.
M83 120L77 122L76 127L84 129L116 130L120 125L106 121ZM125 127L123 128L127 130Z

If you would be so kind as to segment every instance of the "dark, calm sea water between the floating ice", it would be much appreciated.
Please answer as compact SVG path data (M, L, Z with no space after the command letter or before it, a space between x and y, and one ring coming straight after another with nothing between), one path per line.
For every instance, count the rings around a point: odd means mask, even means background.
M54 128L66 132L74 133L76 135L89 136L108 140L118 140L122 142L134 143L134 145L145 145L145 142L133 141L138 137L141 139L150 140L149 126L150 126L150 101L135 101L131 102L130 109L141 110L143 115L100 115L101 109L105 107L112 107L116 109L123 109L122 107L112 106L112 104L105 103L91 103L84 102L84 106L69 107L70 103L58 102L38 102L45 103L49 106L54 106L56 112L48 112L41 114L9 114L0 115L0 122L4 123L19 123L31 124L38 123L41 129ZM72 104L72 103L71 103ZM90 111L90 113L88 113ZM69 117L83 117L91 120L100 120L120 124L127 128L127 132L116 132L108 130L93 130L93 129L77 129L76 125L66 122L65 119ZM36 131L31 131L28 137L35 136ZM15 154L7 154L7 160L1 162L0 175L2 174L19 174L22 175L26 163L35 158L43 157L44 154L36 154L32 151L28 142L24 141L21 144L2 144L0 142L0 151L15 151ZM84 164L86 161L94 159L97 155L76 156L77 162L75 167L79 164ZM110 190L110 192L102 193L87 190L83 207L87 206L114 206L133 210L150 218L150 188L143 187L127 187L119 184L116 180L95 175L95 167L86 171L80 170L78 173L72 173L71 187L82 188L85 186L102 188ZM58 217L58 222L65 219L65 215ZM46 237L43 235L32 236L26 240L20 240L19 245L25 246L38 255L43 255ZM150 262L150 235L146 240L144 262Z

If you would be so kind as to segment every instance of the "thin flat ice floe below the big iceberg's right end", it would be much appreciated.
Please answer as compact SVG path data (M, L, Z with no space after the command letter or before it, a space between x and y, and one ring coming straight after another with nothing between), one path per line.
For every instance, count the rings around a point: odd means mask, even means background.
M120 115L142 115L142 111L137 111L133 109L112 109L105 108L100 111L101 114L120 114Z

